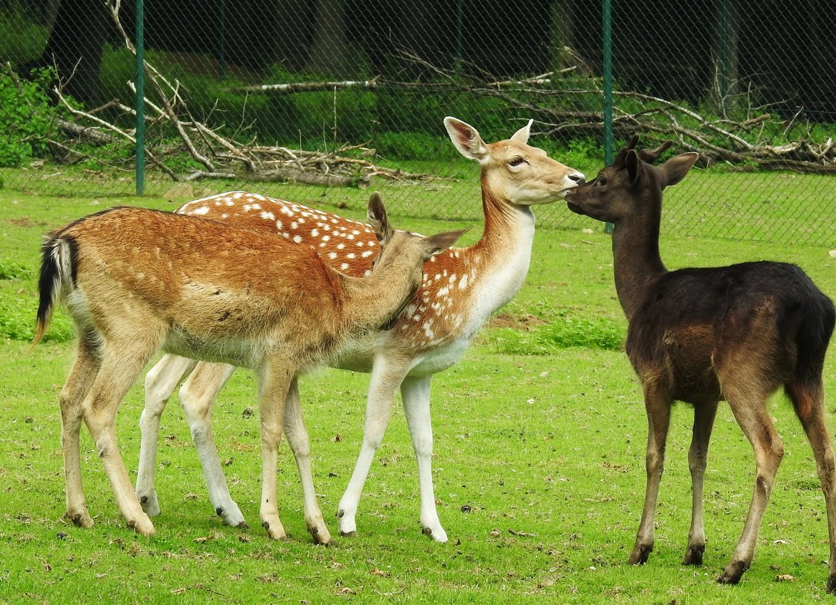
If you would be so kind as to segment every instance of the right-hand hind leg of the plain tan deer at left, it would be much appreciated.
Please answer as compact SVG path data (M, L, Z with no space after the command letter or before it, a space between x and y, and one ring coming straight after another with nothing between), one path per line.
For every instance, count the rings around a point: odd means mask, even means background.
M143 536L153 536L154 525L130 483L116 441L115 423L120 402L156 348L156 343L143 338L105 343L99 373L82 404L84 422L113 487L116 504L128 526Z

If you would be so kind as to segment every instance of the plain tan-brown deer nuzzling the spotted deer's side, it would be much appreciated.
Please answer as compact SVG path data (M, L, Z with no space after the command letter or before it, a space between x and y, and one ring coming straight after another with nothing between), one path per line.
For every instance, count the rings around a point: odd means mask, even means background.
M141 369L163 348L257 371L261 518L270 537L285 536L276 506L276 448L294 377L390 323L420 285L424 262L461 235L393 232L377 194L369 216L384 249L366 278L346 276L309 247L272 234L172 212L115 208L48 235L34 343L59 300L79 332L59 397L70 520L93 524L81 482L84 420L128 525L154 533L122 462L115 417ZM305 516L314 540L328 542L319 508L306 506Z

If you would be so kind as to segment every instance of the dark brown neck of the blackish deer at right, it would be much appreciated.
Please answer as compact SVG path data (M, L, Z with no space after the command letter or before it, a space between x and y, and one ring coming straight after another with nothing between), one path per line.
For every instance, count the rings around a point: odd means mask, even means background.
M639 207L647 211L616 223L612 236L615 291L628 321L649 288L667 272L659 254L661 196L641 200Z

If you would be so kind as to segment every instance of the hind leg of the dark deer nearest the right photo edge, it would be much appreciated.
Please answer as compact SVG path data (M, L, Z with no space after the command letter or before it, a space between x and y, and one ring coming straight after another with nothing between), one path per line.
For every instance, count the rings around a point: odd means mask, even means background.
M833 460L833 446L830 445L827 423L824 418L824 397L821 379L812 388L794 382L787 385L787 394L793 401L798 419L807 433L816 460L818 479L822 484L824 503L828 511L828 538L830 558L828 560L828 592L836 592L836 462Z

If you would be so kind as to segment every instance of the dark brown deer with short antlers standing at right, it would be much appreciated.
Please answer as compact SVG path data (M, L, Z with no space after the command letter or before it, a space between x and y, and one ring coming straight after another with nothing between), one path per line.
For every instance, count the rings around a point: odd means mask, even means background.
M614 224L615 289L629 328L626 351L645 393L649 425L645 507L630 554L645 563L665 460L670 407L694 406L688 463L691 531L684 562L701 565L706 547L702 489L717 404L726 400L755 450L757 474L746 525L718 578L736 584L752 563L757 533L783 455L767 399L783 387L813 446L828 511L827 587L836 589L836 483L824 419L822 369L833 333L833 302L794 265L744 262L668 271L659 255L662 190L682 180L696 153L650 165L670 143L636 151L637 139L598 177L569 191L571 211Z

